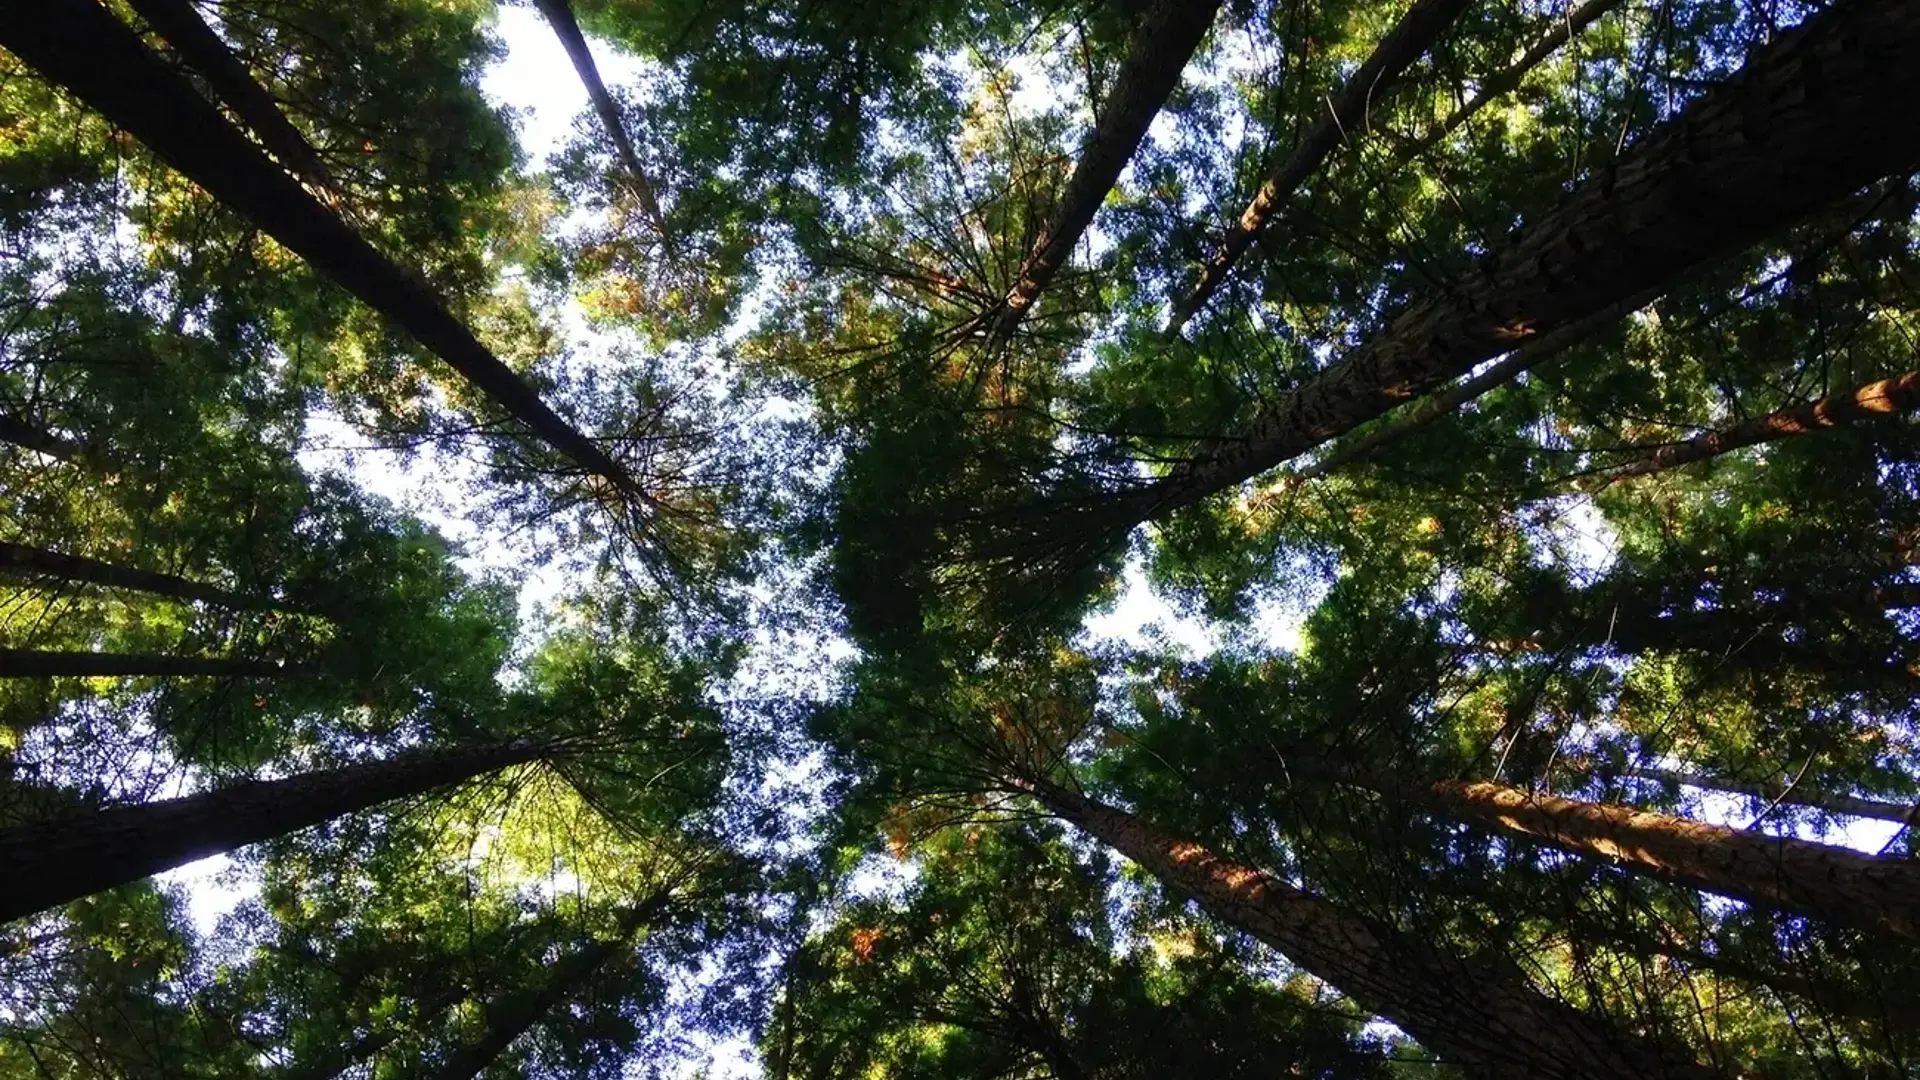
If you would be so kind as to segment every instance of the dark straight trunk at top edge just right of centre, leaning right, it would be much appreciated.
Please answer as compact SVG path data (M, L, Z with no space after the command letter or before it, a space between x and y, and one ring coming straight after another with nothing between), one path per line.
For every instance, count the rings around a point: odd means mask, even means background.
M1060 206L1054 208L1046 231L1020 267L1006 300L989 315L989 342L1012 336L1041 292L1073 256L1073 246L1092 225L1106 192L1114 190L1154 115L1165 106L1167 94L1181 85L1181 73L1213 25L1215 12L1219 0L1156 0L1146 12L1112 90L1100 102L1092 136L1073 163Z

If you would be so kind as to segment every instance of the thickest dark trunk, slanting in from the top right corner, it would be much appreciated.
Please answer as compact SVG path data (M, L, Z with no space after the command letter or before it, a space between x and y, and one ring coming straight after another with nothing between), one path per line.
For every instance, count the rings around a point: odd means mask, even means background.
M1146 521L1354 430L1476 363L1663 290L1920 163L1920 4L1837 0L1628 148L1561 206L1281 394L1244 432L1116 509Z

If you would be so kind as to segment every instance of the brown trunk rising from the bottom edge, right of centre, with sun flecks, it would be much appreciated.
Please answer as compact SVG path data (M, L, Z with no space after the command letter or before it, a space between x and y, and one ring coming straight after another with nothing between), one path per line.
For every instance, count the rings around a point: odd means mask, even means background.
M1263 871L1050 784L1016 784L1054 815L1192 894L1215 919L1273 945L1363 1009L1476 1078L1707 1078L1676 1047L1615 1030L1546 997L1517 967L1469 963Z

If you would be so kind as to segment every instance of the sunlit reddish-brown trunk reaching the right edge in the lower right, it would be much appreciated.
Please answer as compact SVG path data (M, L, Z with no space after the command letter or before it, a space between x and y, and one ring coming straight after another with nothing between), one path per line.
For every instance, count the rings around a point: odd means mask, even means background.
M1572 855L1619 863L1747 903L1920 940L1920 861L1563 799L1492 780L1398 782L1365 776L1356 782Z

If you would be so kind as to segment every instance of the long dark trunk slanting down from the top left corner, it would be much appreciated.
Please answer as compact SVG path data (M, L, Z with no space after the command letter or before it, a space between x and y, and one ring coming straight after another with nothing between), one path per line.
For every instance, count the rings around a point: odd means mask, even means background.
M100 110L213 198L394 319L576 465L647 502L626 469L488 352L424 279L382 256L315 202L106 8L94 0L0 4L0 46Z

